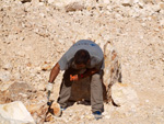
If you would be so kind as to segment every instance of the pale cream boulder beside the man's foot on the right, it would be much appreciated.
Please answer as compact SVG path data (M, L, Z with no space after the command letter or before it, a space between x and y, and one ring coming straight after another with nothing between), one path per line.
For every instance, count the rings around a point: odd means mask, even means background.
M112 87L112 98L120 106L118 111L121 113L134 112L140 105L138 94L129 83L115 83Z

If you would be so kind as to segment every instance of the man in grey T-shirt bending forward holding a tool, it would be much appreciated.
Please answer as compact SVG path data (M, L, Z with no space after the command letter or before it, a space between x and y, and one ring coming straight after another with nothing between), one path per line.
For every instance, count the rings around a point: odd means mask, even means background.
M102 83L103 69L104 54L101 47L92 41L81 40L73 44L55 65L49 76L47 90L52 89L52 82L59 71L65 70L58 103L61 109L66 109L71 95L72 83L90 77L91 81L85 83L91 83L92 112L95 119L98 120L102 117L102 112L104 111Z

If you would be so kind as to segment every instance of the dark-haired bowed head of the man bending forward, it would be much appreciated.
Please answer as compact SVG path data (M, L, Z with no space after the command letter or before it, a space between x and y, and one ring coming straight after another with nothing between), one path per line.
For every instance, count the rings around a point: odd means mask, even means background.
M77 68L84 68L90 61L90 54L85 49L80 49L74 55L74 65Z

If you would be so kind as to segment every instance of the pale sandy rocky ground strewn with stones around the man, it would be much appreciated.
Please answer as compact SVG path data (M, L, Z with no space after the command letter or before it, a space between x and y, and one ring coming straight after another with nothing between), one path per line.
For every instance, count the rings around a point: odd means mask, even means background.
M95 121L90 105L75 103L45 124L163 124L163 0L1 0L0 104L45 104L51 67L82 38L102 48L110 42L117 49L122 83L113 87L113 97L120 106L105 103L104 117ZM61 76L51 100L58 98Z

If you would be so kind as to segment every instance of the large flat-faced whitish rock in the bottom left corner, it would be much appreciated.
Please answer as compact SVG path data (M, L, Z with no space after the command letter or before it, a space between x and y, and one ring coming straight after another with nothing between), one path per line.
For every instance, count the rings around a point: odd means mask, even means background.
M35 124L21 101L0 104L0 124Z

